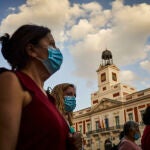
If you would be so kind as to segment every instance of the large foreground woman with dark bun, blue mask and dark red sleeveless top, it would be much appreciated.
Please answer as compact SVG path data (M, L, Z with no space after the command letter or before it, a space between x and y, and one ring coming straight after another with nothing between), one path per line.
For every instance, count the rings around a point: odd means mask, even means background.
M0 70L0 150L66 150L68 125L43 89L63 61L51 31L22 25L0 41L11 66Z

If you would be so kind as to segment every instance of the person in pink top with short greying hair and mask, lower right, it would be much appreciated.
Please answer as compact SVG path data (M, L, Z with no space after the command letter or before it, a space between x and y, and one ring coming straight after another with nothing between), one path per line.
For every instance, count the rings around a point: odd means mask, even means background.
M135 143L140 138L140 131L138 123L134 121L128 121L124 124L124 137L119 143L119 150L141 150L141 148Z

